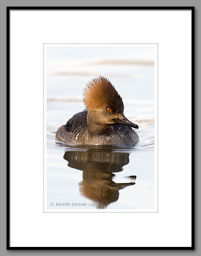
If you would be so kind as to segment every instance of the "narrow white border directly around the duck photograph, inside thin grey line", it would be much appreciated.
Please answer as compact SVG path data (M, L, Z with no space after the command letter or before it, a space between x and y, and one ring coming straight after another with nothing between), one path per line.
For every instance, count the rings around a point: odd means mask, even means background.
M47 209L47 47L154 47L154 209ZM44 44L44 212L158 212L158 45Z

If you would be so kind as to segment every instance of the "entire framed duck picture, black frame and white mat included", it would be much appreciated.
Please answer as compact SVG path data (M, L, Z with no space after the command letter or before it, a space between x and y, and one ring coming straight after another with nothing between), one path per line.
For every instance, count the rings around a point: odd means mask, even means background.
M7 249L194 250L194 7L6 20Z

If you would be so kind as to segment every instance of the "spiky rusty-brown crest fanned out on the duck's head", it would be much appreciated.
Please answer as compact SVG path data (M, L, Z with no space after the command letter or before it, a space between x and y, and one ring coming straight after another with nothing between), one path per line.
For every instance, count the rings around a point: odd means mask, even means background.
M92 79L84 89L83 101L87 110L110 107L113 111L123 111L122 98L106 77Z

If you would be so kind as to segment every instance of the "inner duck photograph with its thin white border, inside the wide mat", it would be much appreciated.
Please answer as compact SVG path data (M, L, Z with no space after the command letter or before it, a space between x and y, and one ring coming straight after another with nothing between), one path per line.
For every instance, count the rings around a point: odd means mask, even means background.
M157 212L157 56L157 44L44 44L44 212ZM127 123L111 124L121 111Z

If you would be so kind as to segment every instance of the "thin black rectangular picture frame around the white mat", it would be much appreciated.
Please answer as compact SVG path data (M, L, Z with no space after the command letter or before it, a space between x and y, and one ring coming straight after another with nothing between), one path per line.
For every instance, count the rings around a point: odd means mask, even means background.
M66 7L66 6L7 6L6 7L6 107L7 120L6 125L10 127L10 10L191 10L192 11L192 123L195 123L195 7L194 6L135 6L135 7ZM7 250L96 250L96 247L11 247L10 239L10 135L6 136L6 249ZM195 132L192 131L192 246L191 247L118 247L118 250L195 250ZM100 250L100 248L97 248ZM101 250L116 250L116 247L101 247Z

